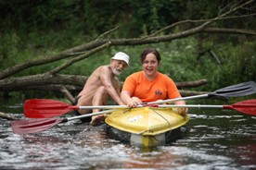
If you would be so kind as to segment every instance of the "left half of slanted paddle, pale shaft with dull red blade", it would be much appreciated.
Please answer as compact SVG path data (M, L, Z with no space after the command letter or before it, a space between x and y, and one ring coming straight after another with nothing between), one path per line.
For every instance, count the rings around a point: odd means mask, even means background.
M57 117L57 118L36 118L36 119L16 120L11 122L11 128L14 131L14 133L17 133L20 135L36 133L48 128L52 128L59 123L65 123L70 120L89 117L93 115L108 114L113 111L114 110L107 110L107 111L96 112L93 114L73 116L69 118Z

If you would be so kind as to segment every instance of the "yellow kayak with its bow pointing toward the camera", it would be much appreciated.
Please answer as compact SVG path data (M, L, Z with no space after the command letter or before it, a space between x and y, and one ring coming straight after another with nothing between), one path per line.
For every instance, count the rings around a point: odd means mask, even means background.
M165 143L167 134L186 125L189 116L178 115L172 108L141 107L118 109L105 121L119 133L130 134L131 144L150 147Z

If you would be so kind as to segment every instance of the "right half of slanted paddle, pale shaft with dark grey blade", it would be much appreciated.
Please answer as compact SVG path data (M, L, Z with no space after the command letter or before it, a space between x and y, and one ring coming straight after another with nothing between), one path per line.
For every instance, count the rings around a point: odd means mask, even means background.
M157 102L150 102L147 104L155 104L155 103L170 103L174 101L181 101L181 100L189 100L189 99L197 99L197 98L205 98L205 97L243 97L250 94L256 93L256 83L254 81L248 81L239 83L236 85L228 86L223 89L210 92L208 94L200 94L195 96L188 96L188 97L181 97Z

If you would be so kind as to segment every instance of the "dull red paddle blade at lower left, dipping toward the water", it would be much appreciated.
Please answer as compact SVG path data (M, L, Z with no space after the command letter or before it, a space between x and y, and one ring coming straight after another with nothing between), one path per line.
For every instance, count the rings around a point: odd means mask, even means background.
M43 131L52 128L58 123L65 122L67 119L63 118L38 118L28 120L17 120L11 122L11 128L17 134L29 134Z

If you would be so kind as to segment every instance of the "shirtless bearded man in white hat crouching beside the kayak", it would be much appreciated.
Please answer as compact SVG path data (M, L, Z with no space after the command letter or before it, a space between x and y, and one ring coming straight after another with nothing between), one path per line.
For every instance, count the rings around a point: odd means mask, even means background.
M119 52L114 55L110 64L106 66L97 67L96 70L87 79L83 91L81 91L77 98L77 105L106 105L109 96L118 104L123 105L120 93L120 82L116 76L120 75L122 70L129 65L129 56ZM94 109L93 113L99 112L99 109ZM92 110L79 110L78 114L84 115L91 113ZM90 125L96 126L105 119L106 115L94 115Z

